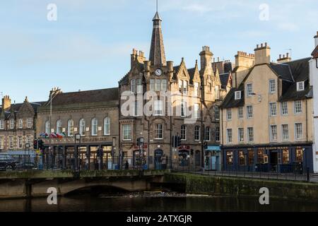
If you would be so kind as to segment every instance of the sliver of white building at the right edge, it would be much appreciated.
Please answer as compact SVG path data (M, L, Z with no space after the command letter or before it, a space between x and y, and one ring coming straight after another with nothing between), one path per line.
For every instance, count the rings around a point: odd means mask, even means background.
M318 31L314 36L314 51L310 64L310 85L313 87L314 95L314 144L312 147L312 159L314 160L314 172L318 172Z

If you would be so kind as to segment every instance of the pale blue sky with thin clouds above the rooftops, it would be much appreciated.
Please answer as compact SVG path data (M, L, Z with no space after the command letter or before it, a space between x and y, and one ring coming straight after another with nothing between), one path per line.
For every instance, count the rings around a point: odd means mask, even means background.
M52 14L49 4L57 6ZM317 0L159 0L168 61L194 67L201 47L234 61L268 42L271 60L310 57ZM57 20L48 20L56 16ZM118 86L132 49L148 58L155 0L11 0L0 2L0 95L12 102ZM52 18L52 17L49 17ZM54 17L53 17L54 18Z

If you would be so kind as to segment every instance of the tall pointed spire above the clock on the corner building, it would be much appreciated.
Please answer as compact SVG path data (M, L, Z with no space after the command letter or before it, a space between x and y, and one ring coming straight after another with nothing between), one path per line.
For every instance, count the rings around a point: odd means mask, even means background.
M161 21L163 21L157 11L153 17L153 35L151 37L151 51L149 60L152 66L165 66L165 47L163 45L163 31L161 30Z

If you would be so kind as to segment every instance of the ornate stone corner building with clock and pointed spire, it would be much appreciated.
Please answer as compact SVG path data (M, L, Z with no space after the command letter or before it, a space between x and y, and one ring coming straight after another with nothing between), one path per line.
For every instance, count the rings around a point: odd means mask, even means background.
M129 165L216 168L220 161L219 106L231 88L230 61L213 61L209 47L200 52L200 66L185 60L166 61L157 13L153 18L150 56L133 50L131 69L119 81L120 150ZM172 148L172 136L181 146ZM143 151L137 139L143 138ZM207 145L204 148L204 143ZM168 161L167 160L172 160Z

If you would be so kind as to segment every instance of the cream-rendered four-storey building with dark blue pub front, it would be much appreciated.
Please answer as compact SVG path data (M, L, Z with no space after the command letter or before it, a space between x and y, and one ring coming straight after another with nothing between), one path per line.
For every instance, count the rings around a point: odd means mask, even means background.
M268 44L238 52L232 89L221 105L225 169L312 171L310 58L271 62Z

